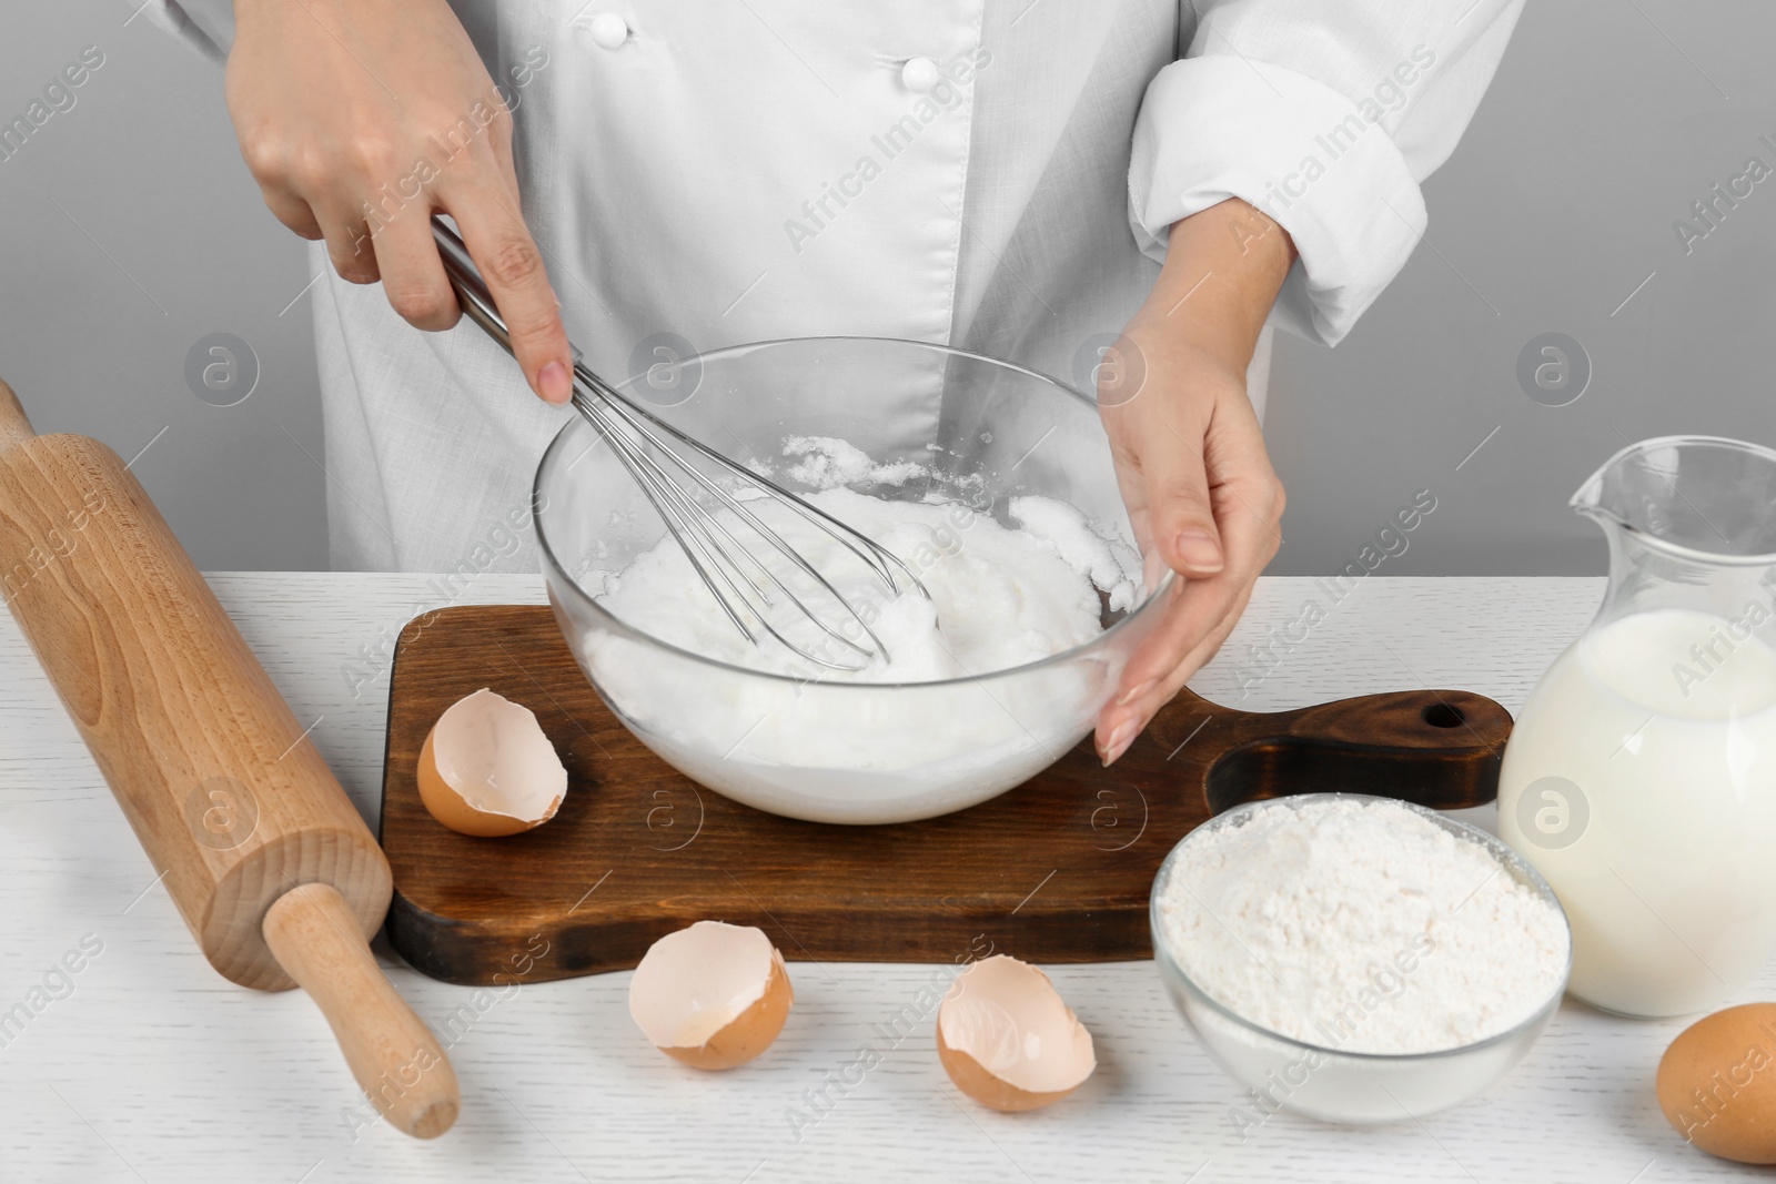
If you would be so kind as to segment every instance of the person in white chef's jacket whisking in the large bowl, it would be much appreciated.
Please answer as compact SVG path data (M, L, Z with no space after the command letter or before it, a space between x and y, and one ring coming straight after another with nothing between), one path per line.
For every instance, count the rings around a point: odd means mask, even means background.
M1280 543L1266 325L1334 344L1398 273L1419 181L1522 9L149 4L226 53L265 201L336 273L314 288L336 566L458 570L527 504L570 391L563 323L618 376L813 334L1092 375L1149 570L1185 577L1099 717L1106 763ZM456 325L433 211L488 279L522 378L472 327L401 323ZM499 566L535 570L531 545Z

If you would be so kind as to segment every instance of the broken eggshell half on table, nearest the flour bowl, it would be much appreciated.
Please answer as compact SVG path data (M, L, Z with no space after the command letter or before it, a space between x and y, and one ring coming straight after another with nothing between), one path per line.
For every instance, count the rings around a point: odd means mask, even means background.
M1002 1111L1058 1102L1098 1069L1092 1033L1048 975L1003 953L950 983L938 1008L938 1060L955 1088Z

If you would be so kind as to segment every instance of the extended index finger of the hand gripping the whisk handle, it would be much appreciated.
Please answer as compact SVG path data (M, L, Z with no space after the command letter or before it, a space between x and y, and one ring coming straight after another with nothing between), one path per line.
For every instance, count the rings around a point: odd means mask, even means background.
M574 357L543 257L504 185L472 183L444 195L464 243L487 280L531 389L551 403L574 392Z

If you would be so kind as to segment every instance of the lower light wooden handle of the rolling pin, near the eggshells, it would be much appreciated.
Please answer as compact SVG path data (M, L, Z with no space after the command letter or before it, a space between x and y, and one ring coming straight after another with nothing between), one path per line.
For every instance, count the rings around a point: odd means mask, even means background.
M265 914L265 941L332 1024L364 1093L396 1129L437 1138L456 1122L456 1072L394 992L332 884L302 884Z

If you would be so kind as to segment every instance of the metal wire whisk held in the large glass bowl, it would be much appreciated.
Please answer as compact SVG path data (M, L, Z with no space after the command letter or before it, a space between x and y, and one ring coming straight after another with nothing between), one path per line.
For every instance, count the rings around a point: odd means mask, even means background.
M451 288L456 289L464 312L510 353L511 335L506 332L506 321L494 307L494 296L481 280L469 249L456 231L437 217L432 218L432 234L437 238L444 273L449 277ZM760 490L773 502L794 511L856 556L888 588L890 595L899 596L911 589L929 600L931 593L899 556L829 513L810 506L769 478L668 424L591 373L579 357L579 350L574 350L574 407L593 426L599 438L616 453L716 604L749 643L760 644L762 630L805 660L838 671L860 671L874 659L888 659L888 648L870 630L858 609L835 588L833 580L790 547L733 492L742 486ZM662 435L732 476L737 483L735 488L723 488L721 481L707 476ZM719 509L728 511L726 522L718 517ZM739 531L732 527L739 527ZM741 536L746 540L742 541ZM783 573L778 570L781 564L771 561L769 552L801 572L810 591L829 598L838 607L836 625L828 620L833 616L831 612L822 614L808 607L803 596L783 582ZM906 580L906 588L902 588L902 580ZM799 614L815 627L821 637L836 643L840 646L838 657L787 637L778 621L773 620L773 609L778 605L789 605L790 614Z

